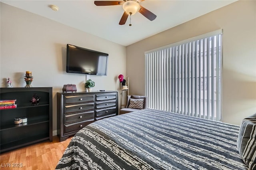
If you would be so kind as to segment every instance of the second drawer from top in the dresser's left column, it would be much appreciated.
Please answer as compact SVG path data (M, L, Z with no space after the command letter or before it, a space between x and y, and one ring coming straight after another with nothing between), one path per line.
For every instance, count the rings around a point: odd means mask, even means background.
M66 105L64 114L89 111L89 110L93 110L93 109L94 109L94 103L85 103L85 104L79 104L79 105Z

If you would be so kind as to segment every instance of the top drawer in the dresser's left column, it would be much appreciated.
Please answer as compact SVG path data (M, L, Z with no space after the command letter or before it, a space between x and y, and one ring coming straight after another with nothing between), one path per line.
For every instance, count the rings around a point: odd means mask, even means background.
M94 101L94 95L65 96L64 104L84 103Z

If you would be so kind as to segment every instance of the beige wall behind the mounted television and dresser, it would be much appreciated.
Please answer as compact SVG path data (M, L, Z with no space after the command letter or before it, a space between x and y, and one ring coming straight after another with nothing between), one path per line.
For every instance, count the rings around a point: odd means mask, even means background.
M126 71L126 47L92 36L42 16L1 5L0 85L11 77L13 87L24 87L26 71L32 71L33 87L53 87L53 130L56 130L56 92L64 84L76 84L84 91L85 75L66 73L65 44L109 54L108 75L90 75L93 90L118 90L119 74Z

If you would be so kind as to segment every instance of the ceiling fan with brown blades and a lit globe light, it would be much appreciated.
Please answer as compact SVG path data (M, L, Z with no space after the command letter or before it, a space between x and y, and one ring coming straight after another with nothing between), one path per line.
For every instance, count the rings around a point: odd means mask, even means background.
M96 6L109 6L109 5L122 5L124 9L124 14L119 22L119 25L124 25L128 16L132 16L136 14L136 12L140 12L143 16L148 18L150 21L153 21L156 18L156 15L141 6L139 3L144 0L122 0L122 1L105 1L105 0L97 0L94 1ZM130 18L131 20L131 18ZM132 26L130 23L129 26Z

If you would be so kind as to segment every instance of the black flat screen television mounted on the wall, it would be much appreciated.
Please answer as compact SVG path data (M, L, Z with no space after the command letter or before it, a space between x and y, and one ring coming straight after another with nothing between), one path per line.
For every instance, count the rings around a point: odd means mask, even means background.
M67 73L107 75L108 54L67 44Z

